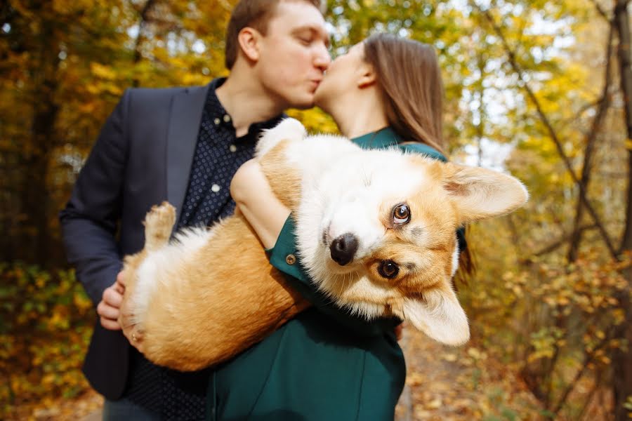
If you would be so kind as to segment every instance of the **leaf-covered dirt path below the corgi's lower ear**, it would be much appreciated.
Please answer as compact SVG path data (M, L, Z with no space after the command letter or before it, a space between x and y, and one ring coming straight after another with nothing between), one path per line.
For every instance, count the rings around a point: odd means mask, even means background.
M444 347L404 329L406 389L397 421L537 420L539 410L525 385L474 345Z

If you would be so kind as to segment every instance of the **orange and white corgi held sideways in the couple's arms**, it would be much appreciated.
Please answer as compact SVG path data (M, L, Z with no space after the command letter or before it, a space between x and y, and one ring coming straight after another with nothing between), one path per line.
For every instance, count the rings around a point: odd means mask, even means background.
M520 181L308 136L294 119L263 134L256 159L296 218L296 264L339 307L368 320L397 316L448 345L469 339L452 286L455 232L522 206ZM145 248L124 263L119 323L154 363L178 370L220 363L310 305L270 265L240 213L170 241L175 222L173 206L154 206Z

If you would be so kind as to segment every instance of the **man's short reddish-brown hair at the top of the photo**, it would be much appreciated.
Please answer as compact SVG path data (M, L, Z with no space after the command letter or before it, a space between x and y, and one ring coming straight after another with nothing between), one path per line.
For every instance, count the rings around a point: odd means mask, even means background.
M226 31L225 65L232 69L237 60L239 42L237 35L245 27L251 27L265 35L268 31L268 22L275 15L277 5L282 1L305 1L315 6L322 12L321 0L241 0L232 10L228 30Z

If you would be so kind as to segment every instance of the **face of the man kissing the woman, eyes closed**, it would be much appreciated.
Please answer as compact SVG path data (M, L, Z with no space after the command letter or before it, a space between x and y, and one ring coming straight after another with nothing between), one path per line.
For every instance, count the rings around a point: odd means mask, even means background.
M312 107L331 61L328 46L317 8L305 1L281 1L260 44L257 67L265 90L284 107Z

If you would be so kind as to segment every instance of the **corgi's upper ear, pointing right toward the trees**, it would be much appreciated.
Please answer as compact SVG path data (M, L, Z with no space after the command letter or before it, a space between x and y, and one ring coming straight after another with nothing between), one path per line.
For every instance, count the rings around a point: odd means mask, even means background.
M453 196L461 223L513 212L529 198L522 182L486 168L446 163L443 188Z

